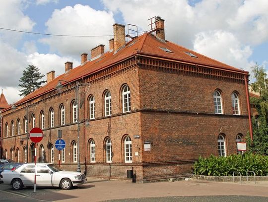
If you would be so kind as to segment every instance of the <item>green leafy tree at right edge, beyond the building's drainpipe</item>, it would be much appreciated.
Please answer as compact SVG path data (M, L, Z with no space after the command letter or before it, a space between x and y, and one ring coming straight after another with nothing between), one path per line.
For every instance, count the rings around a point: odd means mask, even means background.
M268 155L268 88L266 83L266 72L263 66L256 64L252 67L253 76L256 80L252 84L252 90L259 93L260 97L251 97L251 104L255 105L259 117L252 120L253 142L249 141L250 151ZM257 122L258 121L258 122Z

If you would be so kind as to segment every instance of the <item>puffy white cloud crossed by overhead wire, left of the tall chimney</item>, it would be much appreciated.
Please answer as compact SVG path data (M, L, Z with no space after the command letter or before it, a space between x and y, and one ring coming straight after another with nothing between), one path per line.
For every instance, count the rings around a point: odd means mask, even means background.
M95 10L88 5L76 4L54 10L46 22L47 33L64 35L112 35L114 18L111 12ZM57 37L43 38L41 42L62 55L77 56L99 44L108 45L109 37ZM106 48L108 49L108 48Z

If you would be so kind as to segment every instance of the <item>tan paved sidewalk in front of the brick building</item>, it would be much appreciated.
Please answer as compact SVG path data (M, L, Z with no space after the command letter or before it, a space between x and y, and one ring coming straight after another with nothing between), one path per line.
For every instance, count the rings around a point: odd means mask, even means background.
M176 181L159 183L132 183L128 181L88 178L88 182L72 190L55 190L36 199L57 202L99 202L113 199L131 199L171 196L261 196L268 197L268 181L243 183Z

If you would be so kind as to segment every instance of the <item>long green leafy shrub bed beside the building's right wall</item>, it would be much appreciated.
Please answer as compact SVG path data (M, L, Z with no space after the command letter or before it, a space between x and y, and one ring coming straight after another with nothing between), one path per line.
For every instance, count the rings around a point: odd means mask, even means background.
M268 175L268 156L244 153L227 157L211 155L209 158L199 157L194 164L196 175L232 176L233 172L246 176L247 171L254 171L256 176Z

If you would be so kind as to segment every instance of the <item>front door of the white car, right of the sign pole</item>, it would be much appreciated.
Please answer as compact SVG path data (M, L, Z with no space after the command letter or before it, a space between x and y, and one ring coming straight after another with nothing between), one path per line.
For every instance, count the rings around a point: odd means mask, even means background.
M37 165L36 185L37 186L53 186L53 172L47 165Z

